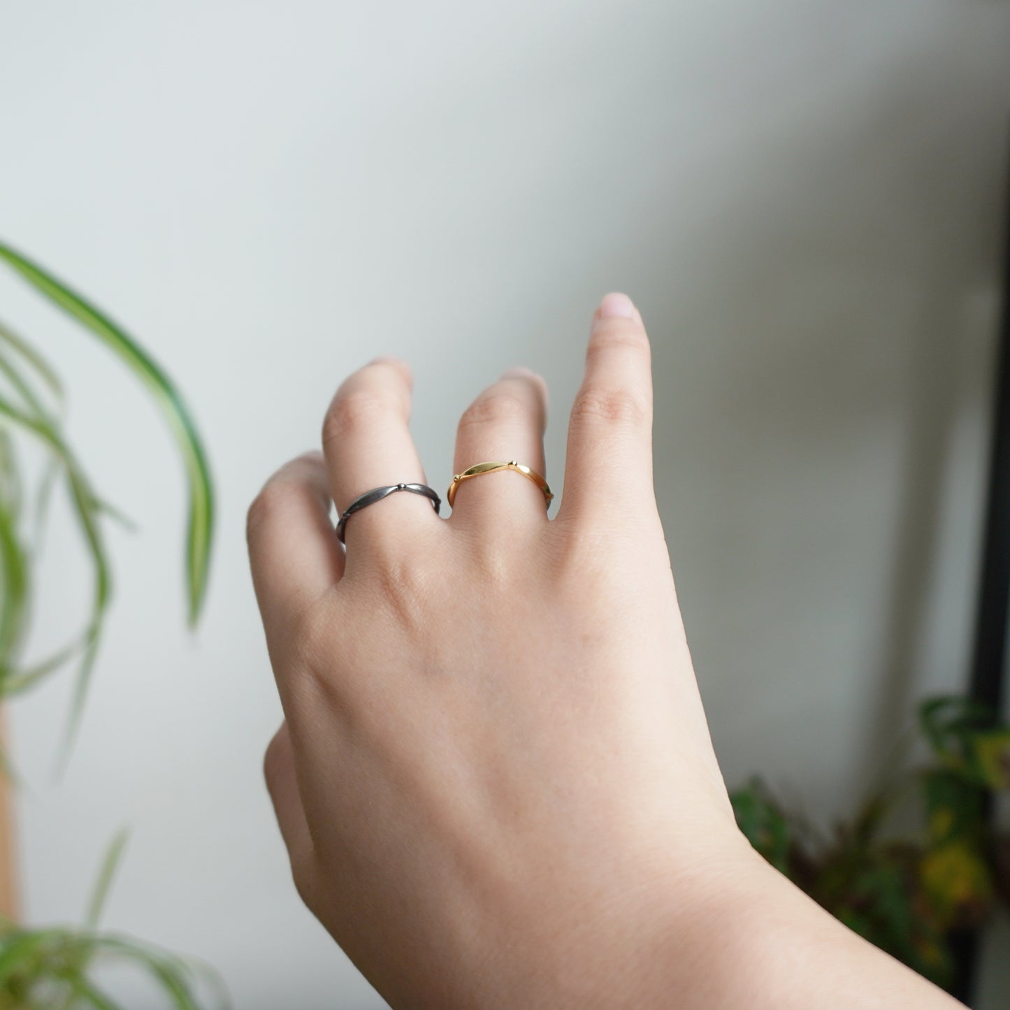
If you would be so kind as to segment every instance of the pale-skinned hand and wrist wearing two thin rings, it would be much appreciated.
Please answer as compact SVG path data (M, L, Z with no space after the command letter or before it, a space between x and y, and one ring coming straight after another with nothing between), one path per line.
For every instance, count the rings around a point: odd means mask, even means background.
M428 483L410 400L405 364L356 372L323 452L248 515L285 712L267 782L295 884L391 1006L961 1006L736 828L652 491L631 302L593 316L552 519L505 471L461 484L448 518L394 494L350 517L344 550L331 503ZM542 380L506 373L464 414L453 473L546 474L545 418Z

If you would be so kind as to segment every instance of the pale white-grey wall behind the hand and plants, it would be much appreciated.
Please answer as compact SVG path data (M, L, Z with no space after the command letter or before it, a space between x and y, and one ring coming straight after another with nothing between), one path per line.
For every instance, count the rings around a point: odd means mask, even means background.
M658 492L723 769L844 813L912 700L965 674L1008 52L996 0L0 8L0 234L180 380L220 495L191 637L165 430L0 278L141 526L113 534L119 594L59 786L69 678L14 710L31 918L78 914L126 822L110 925L214 963L242 1010L382 1005L300 907L262 785L280 710L244 508L379 352L416 368L439 487L468 399L542 371L557 480L611 288L655 344ZM41 644L83 607L61 525Z

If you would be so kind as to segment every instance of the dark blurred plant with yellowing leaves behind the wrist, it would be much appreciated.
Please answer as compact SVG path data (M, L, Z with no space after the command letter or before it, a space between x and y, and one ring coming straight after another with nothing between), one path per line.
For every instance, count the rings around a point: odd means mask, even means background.
M1010 792L1010 726L961 697L929 699L918 727L930 761L902 758L850 823L819 832L753 779L730 797L740 829L773 866L861 936L948 987L951 938L1010 904L1010 835L986 811ZM887 821L914 801L918 833Z

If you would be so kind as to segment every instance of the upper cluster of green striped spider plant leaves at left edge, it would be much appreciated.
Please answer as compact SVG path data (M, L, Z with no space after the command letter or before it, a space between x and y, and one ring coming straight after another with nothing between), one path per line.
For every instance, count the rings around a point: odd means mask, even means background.
M196 621L207 587L213 525L213 491L206 453L175 386L152 358L104 312L37 264L0 243L5 262L36 291L80 322L116 354L152 395L169 422L186 468L189 525L186 589L190 622ZM80 719L94 668L112 589L102 519L119 517L92 488L70 446L61 417L63 387L53 366L9 326L0 324L0 698L32 687L75 656L80 658L70 719L72 736ZM33 493L24 486L15 435L27 435L46 457ZM30 617L32 561L54 484L63 481L91 561L91 614L82 632L41 661L19 663Z

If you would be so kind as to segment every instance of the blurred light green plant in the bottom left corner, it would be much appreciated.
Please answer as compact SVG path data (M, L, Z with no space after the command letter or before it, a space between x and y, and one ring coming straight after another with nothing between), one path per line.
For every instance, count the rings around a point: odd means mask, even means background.
M175 1010L200 1010L202 981L228 998L211 969L147 943L99 929L99 919L125 845L125 832L109 846L83 928L23 929L0 918L0 1010L121 1010L96 980L103 968L146 973Z

